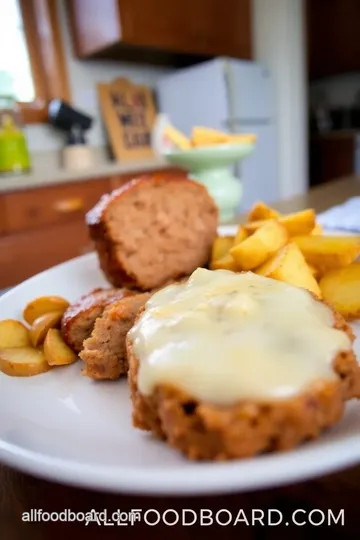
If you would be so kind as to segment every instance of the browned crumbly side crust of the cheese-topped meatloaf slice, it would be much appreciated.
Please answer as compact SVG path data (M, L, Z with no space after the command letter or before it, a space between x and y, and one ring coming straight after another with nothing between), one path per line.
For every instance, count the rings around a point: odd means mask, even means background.
M140 316L140 314L139 314ZM354 340L351 328L335 313L334 327ZM345 402L360 397L360 367L353 352L334 359L335 381L318 381L296 398L281 402L244 401L231 407L202 403L176 388L161 385L151 396L137 387L138 359L127 338L133 425L194 460L228 460L283 451L318 437L343 416Z

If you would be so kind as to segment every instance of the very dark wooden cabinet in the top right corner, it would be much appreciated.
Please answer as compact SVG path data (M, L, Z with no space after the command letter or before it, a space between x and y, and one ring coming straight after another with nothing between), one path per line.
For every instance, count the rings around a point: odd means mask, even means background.
M360 70L359 0L307 0L311 79Z

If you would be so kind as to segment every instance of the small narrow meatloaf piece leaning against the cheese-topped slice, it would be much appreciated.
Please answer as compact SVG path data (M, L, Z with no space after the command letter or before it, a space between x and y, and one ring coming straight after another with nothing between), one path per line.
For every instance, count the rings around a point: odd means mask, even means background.
M118 379L127 373L126 334L150 296L151 293L140 293L124 297L96 319L79 355L85 362L84 375L91 379Z

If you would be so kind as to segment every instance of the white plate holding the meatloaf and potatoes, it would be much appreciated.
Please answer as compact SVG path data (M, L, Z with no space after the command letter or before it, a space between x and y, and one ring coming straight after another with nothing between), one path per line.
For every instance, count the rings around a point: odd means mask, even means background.
M232 229L223 232L233 232ZM75 300L106 282L94 254L39 274L0 298L0 319L20 318L36 296ZM360 357L360 325L353 325ZM225 493L277 486L360 461L360 404L319 440L282 454L192 463L131 425L127 381L94 382L81 363L30 378L0 373L0 460L29 473L99 490Z

